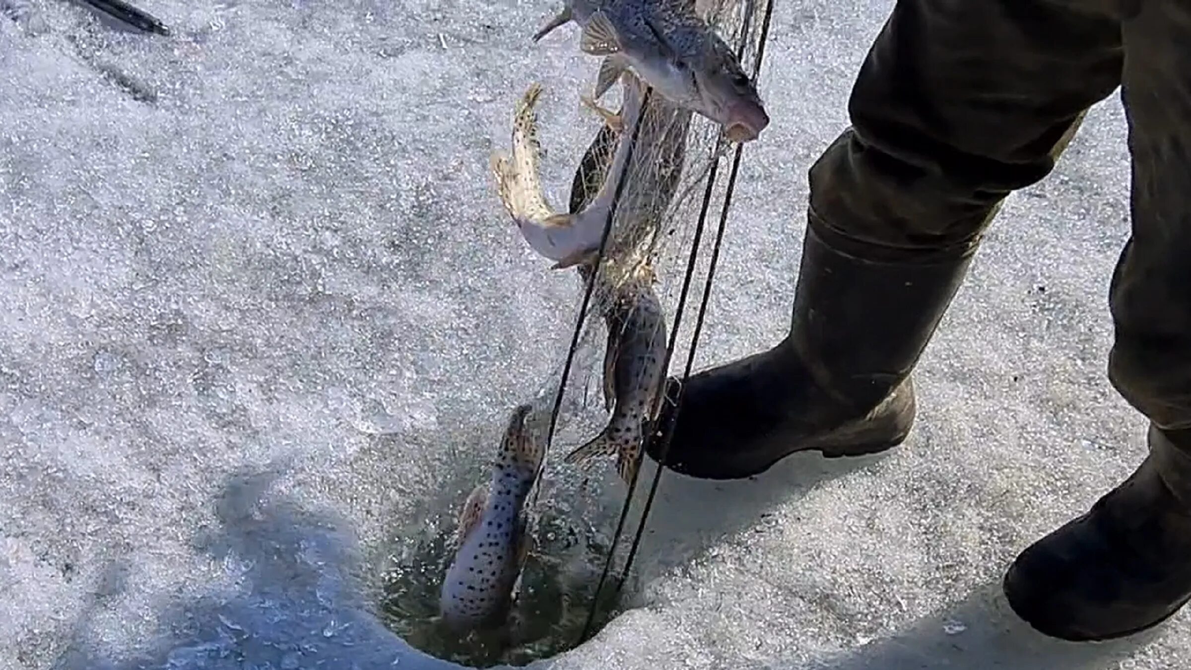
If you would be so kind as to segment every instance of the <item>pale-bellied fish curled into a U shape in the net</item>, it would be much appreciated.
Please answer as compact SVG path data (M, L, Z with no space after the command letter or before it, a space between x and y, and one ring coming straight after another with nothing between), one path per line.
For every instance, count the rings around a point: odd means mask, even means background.
M632 128L637 123L646 91L641 80L630 73L624 73L622 79L624 103L619 114L599 107L590 98L584 98L586 105L617 129ZM493 153L491 168L500 203L517 224L522 236L535 252L555 261L555 268L565 268L585 262L599 250L617 184L624 170L630 167L628 155L630 143L617 144L604 182L586 207L575 213L556 212L545 200L541 181L541 145L537 141L534 113L541 92L542 87L537 83L531 85L525 92L513 117L512 156L504 151ZM644 130L646 128L642 128L642 132L638 134L637 144L650 147L655 138L647 136ZM659 129L659 138L666 130L667 128Z

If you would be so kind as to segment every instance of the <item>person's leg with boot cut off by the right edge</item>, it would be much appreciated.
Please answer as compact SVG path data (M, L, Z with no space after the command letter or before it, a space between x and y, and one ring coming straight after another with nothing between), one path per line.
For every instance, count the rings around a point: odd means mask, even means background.
M1110 639L1191 597L1191 4L1137 2L1122 24L1133 236L1112 277L1109 377L1152 422L1149 454L1005 577L1052 637Z

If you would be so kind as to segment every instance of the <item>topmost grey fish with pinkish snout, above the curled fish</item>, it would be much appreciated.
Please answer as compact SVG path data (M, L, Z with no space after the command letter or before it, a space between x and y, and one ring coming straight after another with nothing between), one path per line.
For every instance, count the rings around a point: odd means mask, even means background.
M596 99L632 69L662 97L721 124L732 142L756 139L769 125L756 86L731 48L691 0L565 0L537 42L567 23L580 25L580 49L604 56Z

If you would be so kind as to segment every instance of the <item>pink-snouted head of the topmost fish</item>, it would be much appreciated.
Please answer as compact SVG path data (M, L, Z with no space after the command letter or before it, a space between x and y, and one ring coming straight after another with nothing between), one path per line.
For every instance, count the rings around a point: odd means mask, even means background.
M732 142L756 139L769 125L769 114L728 44L712 37L688 62L701 104L698 111L722 124Z

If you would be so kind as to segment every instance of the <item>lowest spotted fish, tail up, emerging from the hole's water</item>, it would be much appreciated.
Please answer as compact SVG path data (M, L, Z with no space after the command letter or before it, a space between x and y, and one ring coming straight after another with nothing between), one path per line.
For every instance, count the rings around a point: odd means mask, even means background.
M530 405L517 407L505 428L492 478L476 486L460 511L459 550L443 581L439 616L455 629L506 622L531 539L525 498L543 451L525 427Z

